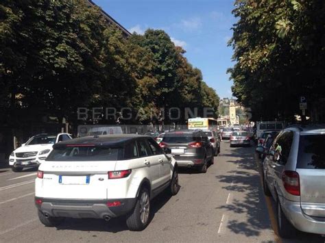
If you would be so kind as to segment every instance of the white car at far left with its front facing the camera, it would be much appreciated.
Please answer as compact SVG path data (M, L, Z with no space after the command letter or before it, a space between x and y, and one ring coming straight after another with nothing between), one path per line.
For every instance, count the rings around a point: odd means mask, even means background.
M14 172L19 172L23 168L38 167L52 151L53 144L71 139L69 133L43 133L33 136L25 144L12 151L9 165Z

